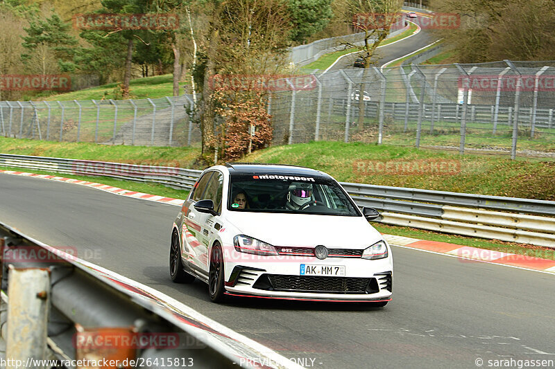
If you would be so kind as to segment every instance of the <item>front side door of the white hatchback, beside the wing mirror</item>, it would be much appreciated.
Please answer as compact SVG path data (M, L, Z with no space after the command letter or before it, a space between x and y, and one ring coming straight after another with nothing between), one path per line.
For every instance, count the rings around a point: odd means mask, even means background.
M203 193L203 199L212 200L214 202L214 211L218 215L208 213L200 213L197 217L197 222L200 225L200 245L198 246L200 253L198 253L198 266L208 273L210 270L210 246L216 238L216 229L214 224L219 222L219 215L221 214L222 206L222 192L223 192L223 174L215 171L210 181L208 181L206 190Z

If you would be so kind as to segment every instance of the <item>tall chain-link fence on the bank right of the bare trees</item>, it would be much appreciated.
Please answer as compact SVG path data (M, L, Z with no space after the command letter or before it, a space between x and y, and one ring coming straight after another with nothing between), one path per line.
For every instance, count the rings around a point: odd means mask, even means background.
M555 62L375 67L315 78L314 89L271 93L273 143L341 140L555 157Z

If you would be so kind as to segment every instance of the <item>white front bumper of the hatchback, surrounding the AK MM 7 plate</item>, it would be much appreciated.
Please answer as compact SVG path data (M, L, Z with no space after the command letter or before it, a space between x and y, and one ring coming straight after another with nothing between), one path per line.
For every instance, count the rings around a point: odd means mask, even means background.
M393 262L361 258L254 257L253 262L225 262L225 290L230 295L294 300L366 301L391 300ZM345 276L303 276L300 265L342 265Z

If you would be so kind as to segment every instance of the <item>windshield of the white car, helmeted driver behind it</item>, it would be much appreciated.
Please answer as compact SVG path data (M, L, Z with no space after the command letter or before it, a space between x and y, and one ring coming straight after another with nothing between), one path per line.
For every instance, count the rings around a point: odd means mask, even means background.
M228 210L361 216L336 181L290 174L232 175Z

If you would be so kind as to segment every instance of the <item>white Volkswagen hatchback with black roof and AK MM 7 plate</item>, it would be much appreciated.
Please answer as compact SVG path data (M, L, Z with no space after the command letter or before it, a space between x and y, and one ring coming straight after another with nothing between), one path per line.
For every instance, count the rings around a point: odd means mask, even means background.
M170 276L198 278L210 298L391 300L393 258L330 175L290 165L231 163L205 170L171 233Z

